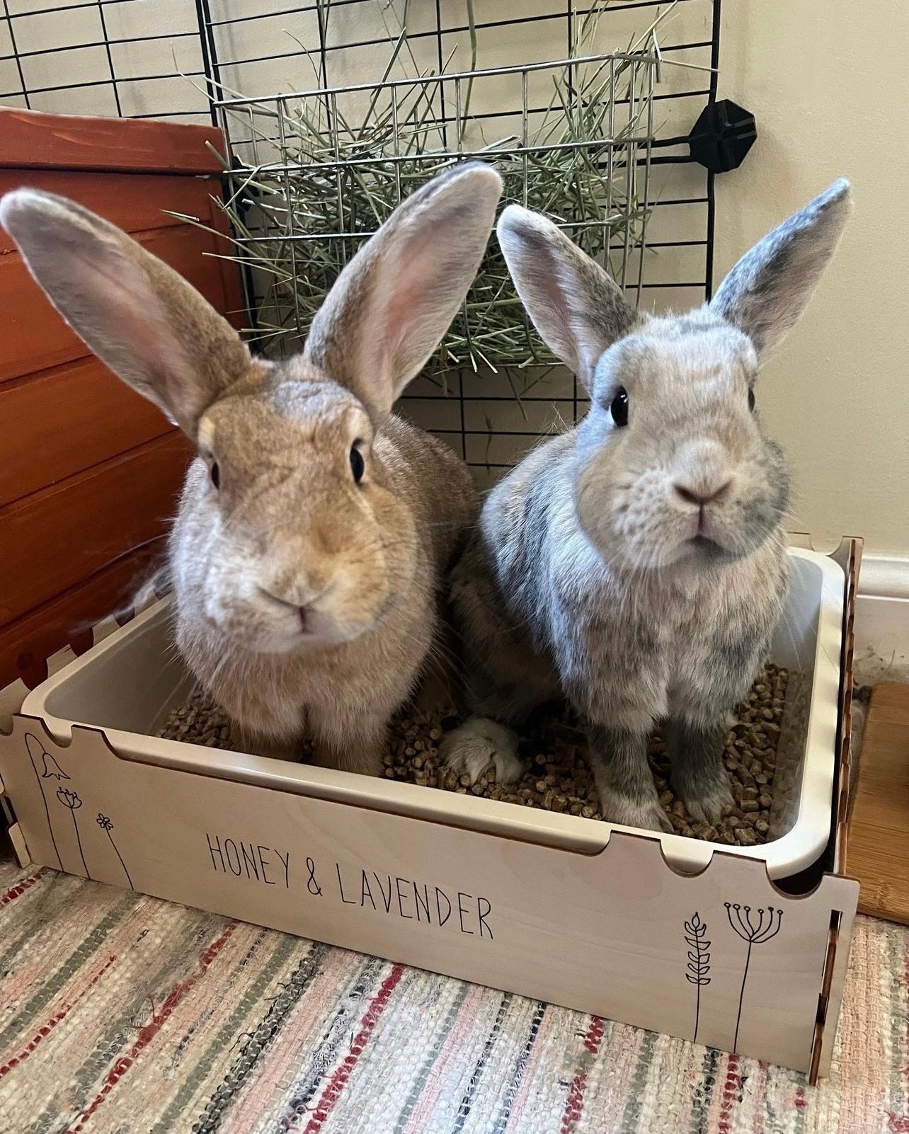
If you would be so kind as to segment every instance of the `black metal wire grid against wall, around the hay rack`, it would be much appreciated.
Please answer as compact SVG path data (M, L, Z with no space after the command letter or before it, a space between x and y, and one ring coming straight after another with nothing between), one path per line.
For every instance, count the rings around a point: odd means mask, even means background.
M214 102L235 93L378 81L402 20L422 66L441 69L455 49L458 69L470 66L465 0L0 5L0 102L36 110L218 121ZM579 0L473 0L477 66L571 54L589 7ZM626 48L666 7L667 0L613 0L594 49ZM675 0L660 25L662 56L688 66L667 66L654 94L645 306L691 306L713 287L714 178L692 162L687 136L705 103L716 99L719 8L721 0ZM472 373L447 396L418 379L406 400L407 412L447 437L481 481L583 411L576 383L558 373L527 389L520 403L503 375Z

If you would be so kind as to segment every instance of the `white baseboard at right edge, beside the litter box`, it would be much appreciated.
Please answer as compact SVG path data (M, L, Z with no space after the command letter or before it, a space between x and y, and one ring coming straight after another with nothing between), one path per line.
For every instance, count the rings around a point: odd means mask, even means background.
M862 556L856 603L856 679L909 682L909 558Z

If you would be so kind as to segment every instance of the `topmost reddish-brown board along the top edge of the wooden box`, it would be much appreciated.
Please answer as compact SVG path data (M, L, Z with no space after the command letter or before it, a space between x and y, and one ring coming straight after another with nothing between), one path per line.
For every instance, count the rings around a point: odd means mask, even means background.
M0 110L0 163L25 169L218 174L224 149L213 127L34 110Z

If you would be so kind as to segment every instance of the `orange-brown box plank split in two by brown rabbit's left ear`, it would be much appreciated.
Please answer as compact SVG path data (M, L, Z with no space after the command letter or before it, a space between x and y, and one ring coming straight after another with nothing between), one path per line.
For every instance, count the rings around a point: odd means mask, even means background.
M222 261L204 253L226 251L219 237L182 225L138 237L143 247L166 261L218 310L225 307ZM0 259L0 382L84 358L83 341L66 325L28 274L18 253Z

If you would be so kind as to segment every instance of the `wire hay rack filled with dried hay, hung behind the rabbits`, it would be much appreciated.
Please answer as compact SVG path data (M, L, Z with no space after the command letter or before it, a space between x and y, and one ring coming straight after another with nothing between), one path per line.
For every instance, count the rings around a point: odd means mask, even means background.
M596 10L581 22L583 50ZM402 59L405 78L392 78ZM377 83L219 102L232 152L227 201L254 325L267 352L298 348L344 264L413 188L460 161L490 161L504 203L555 219L640 296L648 215L653 31L622 52L448 71L420 68L406 33ZM490 242L427 369L553 365ZM527 388L514 384L515 392Z

